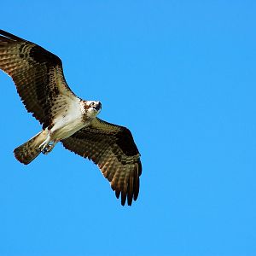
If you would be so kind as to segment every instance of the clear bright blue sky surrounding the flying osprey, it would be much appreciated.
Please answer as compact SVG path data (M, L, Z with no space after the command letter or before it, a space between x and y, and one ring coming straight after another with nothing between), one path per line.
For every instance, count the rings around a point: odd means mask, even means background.
M143 175L121 207L61 144L21 165L41 127L1 72L1 256L256 255L255 1L2 2L2 29L131 129Z

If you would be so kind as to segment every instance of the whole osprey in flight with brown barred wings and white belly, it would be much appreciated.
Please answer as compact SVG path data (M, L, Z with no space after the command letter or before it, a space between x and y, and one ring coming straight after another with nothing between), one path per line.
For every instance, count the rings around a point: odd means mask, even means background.
M15 148L15 158L27 165L55 144L93 160L121 204L131 206L139 193L140 154L131 131L96 116L102 103L76 96L64 78L61 59L38 44L0 30L0 68L14 80L27 112L43 130Z

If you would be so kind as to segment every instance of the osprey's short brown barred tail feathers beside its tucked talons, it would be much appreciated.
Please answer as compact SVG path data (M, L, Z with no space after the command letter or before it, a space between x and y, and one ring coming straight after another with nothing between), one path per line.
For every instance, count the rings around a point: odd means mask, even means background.
M41 153L39 148L40 144L44 143L47 137L47 131L41 131L34 137L32 137L28 142L20 145L20 147L15 148L15 158L19 160L20 163L28 165L32 160L34 160L38 154Z

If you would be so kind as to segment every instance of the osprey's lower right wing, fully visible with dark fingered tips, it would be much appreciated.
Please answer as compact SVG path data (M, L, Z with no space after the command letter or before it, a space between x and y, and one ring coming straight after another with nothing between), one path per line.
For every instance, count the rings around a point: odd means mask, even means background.
M123 206L126 198L129 206L137 200L142 164L131 131L96 118L61 143L99 166Z

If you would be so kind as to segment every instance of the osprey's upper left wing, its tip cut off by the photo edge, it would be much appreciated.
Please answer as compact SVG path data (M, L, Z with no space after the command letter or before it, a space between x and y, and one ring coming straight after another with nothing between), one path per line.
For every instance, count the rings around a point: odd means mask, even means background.
M66 83L58 56L3 30L0 30L0 69L14 80L26 110L44 128L53 119L53 110L75 97Z

